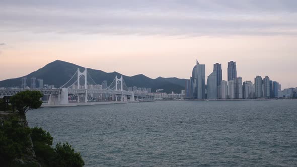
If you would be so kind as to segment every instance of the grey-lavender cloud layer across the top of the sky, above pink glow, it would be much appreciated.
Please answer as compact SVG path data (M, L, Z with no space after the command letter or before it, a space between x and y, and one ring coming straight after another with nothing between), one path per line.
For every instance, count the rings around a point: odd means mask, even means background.
M2 1L2 31L297 35L297 1Z

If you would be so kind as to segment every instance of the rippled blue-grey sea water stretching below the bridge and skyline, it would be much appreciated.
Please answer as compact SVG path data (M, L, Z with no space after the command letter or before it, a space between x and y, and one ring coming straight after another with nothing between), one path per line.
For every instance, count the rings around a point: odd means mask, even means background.
M41 108L27 120L85 166L297 166L295 100Z

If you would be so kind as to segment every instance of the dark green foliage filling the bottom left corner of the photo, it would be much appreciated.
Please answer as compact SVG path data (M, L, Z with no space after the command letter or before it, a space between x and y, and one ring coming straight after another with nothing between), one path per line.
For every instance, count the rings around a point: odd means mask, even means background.
M27 151L31 146L30 132L30 128L21 125L17 118L0 125L0 162L4 166L9 165L14 158L30 154Z

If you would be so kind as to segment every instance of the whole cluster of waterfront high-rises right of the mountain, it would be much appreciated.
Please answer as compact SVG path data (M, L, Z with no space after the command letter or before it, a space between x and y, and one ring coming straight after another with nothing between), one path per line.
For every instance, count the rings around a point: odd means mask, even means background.
M206 82L206 84L205 84ZM244 81L237 76L236 62L228 62L228 80L222 80L221 64L213 64L213 71L205 79L205 64L196 61L192 77L186 80L186 99L270 99L294 97L296 89L281 91L281 85L268 76L256 76L252 81Z

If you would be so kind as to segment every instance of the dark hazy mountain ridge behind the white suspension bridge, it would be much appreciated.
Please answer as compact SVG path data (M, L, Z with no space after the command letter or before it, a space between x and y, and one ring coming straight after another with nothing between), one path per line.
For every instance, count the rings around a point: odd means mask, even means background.
M83 71L85 67L61 60L56 60L38 69L37 71L34 71L22 77L36 77L36 79L40 78L43 79L44 84L55 85L55 87L58 88L65 84L77 71L78 68ZM122 75L118 72L104 72L102 70L92 68L87 68L87 70L97 84L101 84L103 80L107 80L109 85L116 75L118 77ZM22 77L2 80L0 81L0 87L20 87L22 84ZM181 90L185 89L186 80L176 77L158 77L156 79L152 79L143 74L134 76L123 75L123 79L128 87L136 86L141 88L152 88L152 91L156 91L157 89L164 89L164 91L167 93L171 93L171 91L180 93ZM27 85L30 85L29 79L27 79L27 82L29 82L27 83Z

